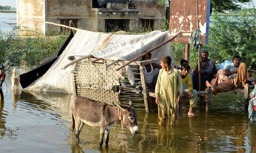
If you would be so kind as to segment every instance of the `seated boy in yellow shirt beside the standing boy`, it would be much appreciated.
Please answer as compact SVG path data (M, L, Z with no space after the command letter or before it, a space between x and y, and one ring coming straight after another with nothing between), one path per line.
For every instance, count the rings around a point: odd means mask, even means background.
M180 66L180 75L183 83L183 93L187 94L189 98L190 107L189 107L189 116L195 116L194 108L197 105L197 91L193 90L191 77L189 74L190 66L188 64L183 64ZM188 89L184 88L185 83L187 84Z

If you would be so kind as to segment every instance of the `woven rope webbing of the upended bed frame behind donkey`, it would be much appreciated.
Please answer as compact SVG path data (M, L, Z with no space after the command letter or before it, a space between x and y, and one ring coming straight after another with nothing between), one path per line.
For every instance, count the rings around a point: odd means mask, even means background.
M119 86L118 66L106 68L106 63L91 63L90 59L82 60L73 74L76 96L83 96L95 101L112 104L118 103L118 92L113 88Z

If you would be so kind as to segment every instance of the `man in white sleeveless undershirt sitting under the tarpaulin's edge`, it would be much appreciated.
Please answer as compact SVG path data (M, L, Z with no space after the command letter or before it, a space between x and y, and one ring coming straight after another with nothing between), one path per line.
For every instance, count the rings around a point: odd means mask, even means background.
M150 52L147 55L144 55L142 57L142 61L149 60L149 59L151 59ZM143 67L144 67L145 81L146 81L147 87L151 88L152 90L155 90L158 74L155 74L154 69L155 68L161 69L162 67L156 63L149 63Z

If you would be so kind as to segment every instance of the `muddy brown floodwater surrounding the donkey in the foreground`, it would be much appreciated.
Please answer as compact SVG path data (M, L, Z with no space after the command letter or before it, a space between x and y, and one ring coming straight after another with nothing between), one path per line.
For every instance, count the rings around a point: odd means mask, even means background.
M19 68L22 74L24 69ZM3 85L5 98L0 107L0 152L19 153L96 153L122 152L122 129L114 125L109 135L109 148L99 148L98 127L85 125L76 143L71 131L71 101L67 94L24 92L13 93L12 70ZM180 104L181 120L169 120L158 127L157 108L138 110L139 133L132 136L124 129L124 152L256 152L256 122L248 119L243 93L228 92L212 97L208 106L199 105L197 116L189 118L189 101ZM171 124L170 124L171 123Z

